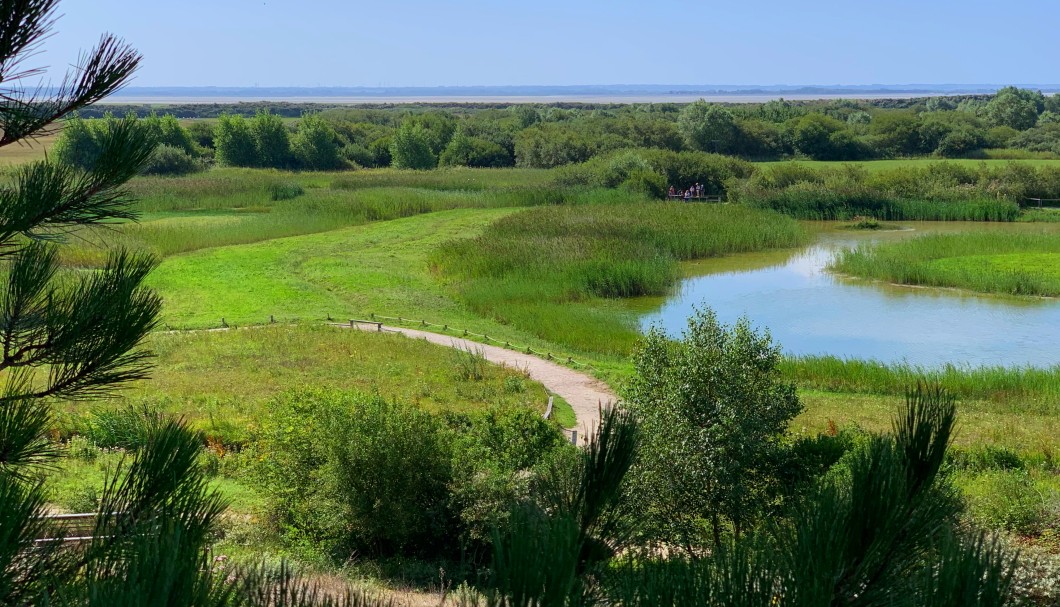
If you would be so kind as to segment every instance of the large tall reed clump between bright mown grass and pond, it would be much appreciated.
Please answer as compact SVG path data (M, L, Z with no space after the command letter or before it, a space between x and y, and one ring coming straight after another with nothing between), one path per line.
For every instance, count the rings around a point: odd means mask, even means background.
M781 215L700 204L576 204L508 216L432 255L479 314L588 352L626 352L636 338L618 298L665 294L677 262L805 244Z

